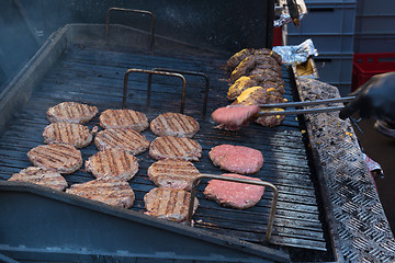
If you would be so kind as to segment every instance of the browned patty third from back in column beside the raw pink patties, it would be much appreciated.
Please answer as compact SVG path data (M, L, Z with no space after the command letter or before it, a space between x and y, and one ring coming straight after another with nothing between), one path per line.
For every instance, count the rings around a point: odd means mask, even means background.
M155 185L190 191L193 180L200 175L199 170L190 161L165 159L148 168L148 178Z

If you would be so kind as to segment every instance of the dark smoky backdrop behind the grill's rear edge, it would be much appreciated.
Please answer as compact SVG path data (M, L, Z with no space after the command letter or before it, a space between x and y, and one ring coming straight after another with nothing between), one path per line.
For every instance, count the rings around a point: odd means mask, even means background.
M272 44L273 0L1 0L0 87L54 31L68 23L104 24L113 7L150 11L156 34L195 46L232 54ZM111 23L148 32L151 26L149 15L119 11L111 12Z

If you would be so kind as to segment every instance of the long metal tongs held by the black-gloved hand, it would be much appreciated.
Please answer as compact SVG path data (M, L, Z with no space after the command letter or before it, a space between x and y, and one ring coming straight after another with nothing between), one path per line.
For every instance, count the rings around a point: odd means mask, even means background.
M335 112L340 111L345 106L328 106L328 107L317 107L317 108L295 108L291 111L268 111L264 108L286 108L286 107L302 107L302 106L313 106L320 104L331 104L331 103L342 103L350 102L356 96L345 96L327 100L316 100L316 101L305 101L305 102L286 102L286 103L272 103L272 104L259 104L262 110L258 113L259 116L270 116L270 115L297 115L306 113L323 113L323 112Z

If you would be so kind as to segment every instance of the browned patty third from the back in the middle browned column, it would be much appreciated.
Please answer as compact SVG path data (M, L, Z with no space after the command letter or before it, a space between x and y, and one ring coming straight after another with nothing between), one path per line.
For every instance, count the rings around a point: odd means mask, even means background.
M138 171L138 160L121 149L106 149L86 161L86 170L95 178L116 178L129 181Z

